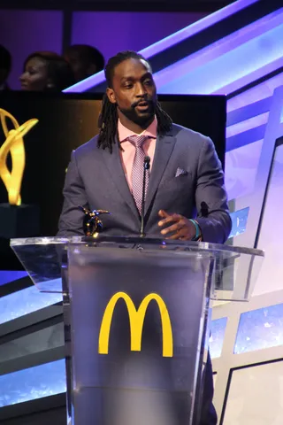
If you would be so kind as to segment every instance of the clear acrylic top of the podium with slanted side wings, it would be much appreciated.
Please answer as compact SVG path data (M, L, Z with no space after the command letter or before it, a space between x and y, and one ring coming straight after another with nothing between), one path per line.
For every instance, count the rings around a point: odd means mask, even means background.
M210 298L216 300L248 300L256 283L264 251L222 245L218 243L195 243L168 241L154 238L99 236L35 237L11 239L11 248L27 270L38 290L63 292L61 268L67 264L70 245L77 250L91 246L94 256L103 252L104 260L112 261L119 256L129 260L167 261L180 255L207 256L214 258L213 282ZM102 251L103 250L103 251ZM102 260L102 256L100 259Z

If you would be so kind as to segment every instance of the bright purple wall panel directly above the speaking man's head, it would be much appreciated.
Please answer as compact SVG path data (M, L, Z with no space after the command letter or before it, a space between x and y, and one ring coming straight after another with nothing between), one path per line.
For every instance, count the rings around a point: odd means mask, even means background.
M119 50L142 50L202 19L192 12L74 12L73 43L88 43L108 60Z

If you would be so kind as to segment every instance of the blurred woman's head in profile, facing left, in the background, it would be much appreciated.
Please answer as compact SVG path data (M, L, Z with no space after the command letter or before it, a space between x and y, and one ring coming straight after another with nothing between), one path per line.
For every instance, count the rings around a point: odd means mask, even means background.
M22 90L51 92L60 92L75 82L72 67L52 51L35 51L29 55L19 81Z

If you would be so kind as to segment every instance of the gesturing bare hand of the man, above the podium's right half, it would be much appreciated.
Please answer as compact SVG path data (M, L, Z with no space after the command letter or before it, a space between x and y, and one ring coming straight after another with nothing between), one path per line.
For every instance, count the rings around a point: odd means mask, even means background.
M180 214L168 214L164 210L158 212L162 220L158 221L158 226L163 228L160 233L166 239L180 239L190 241L195 237L195 226L186 217ZM167 226L164 228L164 226ZM171 236L166 236L172 234Z

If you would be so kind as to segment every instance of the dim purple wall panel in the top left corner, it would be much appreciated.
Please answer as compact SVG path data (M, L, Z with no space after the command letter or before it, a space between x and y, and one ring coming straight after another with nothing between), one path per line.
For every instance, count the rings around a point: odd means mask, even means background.
M10 50L13 59L11 89L20 89L19 75L30 53L61 52L62 23L63 14L59 11L0 11L0 42Z

